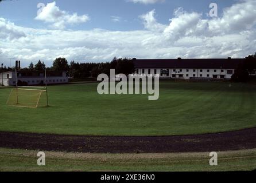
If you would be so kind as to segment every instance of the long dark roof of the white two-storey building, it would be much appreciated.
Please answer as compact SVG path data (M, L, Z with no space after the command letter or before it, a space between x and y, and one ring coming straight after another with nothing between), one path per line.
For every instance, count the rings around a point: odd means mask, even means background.
M133 59L136 69L236 69L243 58Z

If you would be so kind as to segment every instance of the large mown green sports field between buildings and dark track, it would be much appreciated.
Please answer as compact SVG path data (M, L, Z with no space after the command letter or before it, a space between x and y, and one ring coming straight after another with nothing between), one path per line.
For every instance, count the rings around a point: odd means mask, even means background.
M49 86L51 106L37 109L6 105L11 89L0 89L0 130L158 136L256 126L256 85L228 85L161 81L158 101L148 101L148 95L99 95L97 83Z

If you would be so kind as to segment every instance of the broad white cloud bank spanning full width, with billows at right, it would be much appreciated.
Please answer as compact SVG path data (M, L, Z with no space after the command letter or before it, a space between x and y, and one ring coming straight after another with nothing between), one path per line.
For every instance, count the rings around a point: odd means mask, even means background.
M32 29L0 18L0 61L9 66L14 58L28 66L41 59L50 66L60 56L83 62L115 56L242 58L256 51L255 10L255 1L239 1L221 17L203 19L201 13L179 8L166 25L157 22L152 10L141 16L147 30L137 31Z

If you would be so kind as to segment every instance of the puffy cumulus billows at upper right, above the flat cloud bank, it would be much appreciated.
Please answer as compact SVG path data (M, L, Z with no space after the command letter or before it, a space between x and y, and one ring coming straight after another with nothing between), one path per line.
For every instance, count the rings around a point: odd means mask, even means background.
M142 15L144 25L148 30L154 27L165 27L163 33L166 38L177 41L185 36L213 37L241 31L251 30L256 25L256 1L241 1L223 10L223 16L212 19L203 19L201 13L187 12L182 7L174 10L174 17L169 25L162 25L154 18L155 11ZM161 30L161 29L158 29Z

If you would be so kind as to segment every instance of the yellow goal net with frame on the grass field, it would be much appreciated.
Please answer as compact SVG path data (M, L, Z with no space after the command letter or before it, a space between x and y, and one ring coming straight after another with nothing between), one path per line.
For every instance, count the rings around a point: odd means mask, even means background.
M46 87L17 86L11 89L7 105L24 108L46 106Z

